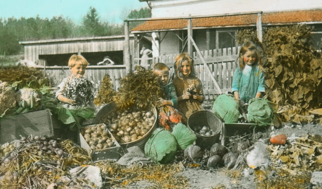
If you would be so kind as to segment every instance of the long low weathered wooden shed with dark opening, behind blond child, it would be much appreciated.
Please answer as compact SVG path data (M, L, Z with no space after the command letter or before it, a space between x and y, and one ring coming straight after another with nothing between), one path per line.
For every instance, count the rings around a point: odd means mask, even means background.
M124 39L126 36L83 37L68 39L49 39L39 41L19 42L24 46L25 60L36 63L38 69L43 69L46 75L57 85L64 77L69 75L67 67L68 58L72 54L83 55L90 63L86 69L86 77L99 84L105 74L109 74L114 87L117 89L118 80L125 76L124 65ZM128 36L131 46L130 56L133 54L134 35ZM140 45L150 45L149 40L142 38ZM104 57L114 61L114 65L100 65Z

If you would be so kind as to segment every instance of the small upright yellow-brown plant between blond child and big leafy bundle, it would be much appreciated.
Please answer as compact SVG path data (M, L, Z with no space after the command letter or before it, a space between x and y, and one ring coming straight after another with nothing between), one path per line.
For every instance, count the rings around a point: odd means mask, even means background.
M107 104L113 101L116 91L113 89L113 84L109 74L106 74L102 80L97 96L94 98L95 105Z

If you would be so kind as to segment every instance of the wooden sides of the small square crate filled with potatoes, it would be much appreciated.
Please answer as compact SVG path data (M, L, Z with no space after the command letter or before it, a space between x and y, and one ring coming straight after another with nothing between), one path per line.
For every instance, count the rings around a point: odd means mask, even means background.
M100 123L104 124L104 123ZM88 125L87 127L91 127L92 125ZM84 128L82 128L84 129ZM90 156L92 156L93 161L101 161L101 160L118 160L124 152L122 152L122 148L120 144L116 141L114 136L111 134L110 131L108 131L109 136L114 141L114 146L110 148L105 148L101 150L92 150L90 145L86 142L84 136L81 134L81 132L78 132L79 136L79 143L81 144L81 147L86 149Z

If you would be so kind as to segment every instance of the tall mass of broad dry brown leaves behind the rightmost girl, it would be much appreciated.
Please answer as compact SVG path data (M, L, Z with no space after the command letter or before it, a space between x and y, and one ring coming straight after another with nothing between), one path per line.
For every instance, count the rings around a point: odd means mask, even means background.
M307 25L264 28L266 94L279 106L283 121L309 122L308 111L322 103L322 59L311 45L311 30ZM258 43L255 31L238 30L238 42Z

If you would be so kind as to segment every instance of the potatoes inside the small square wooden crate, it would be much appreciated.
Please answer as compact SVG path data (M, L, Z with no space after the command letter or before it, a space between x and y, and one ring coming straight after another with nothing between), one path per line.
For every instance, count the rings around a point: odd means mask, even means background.
M92 150L100 150L115 146L113 139L107 131L107 126L104 123L83 128L81 129L81 134Z

